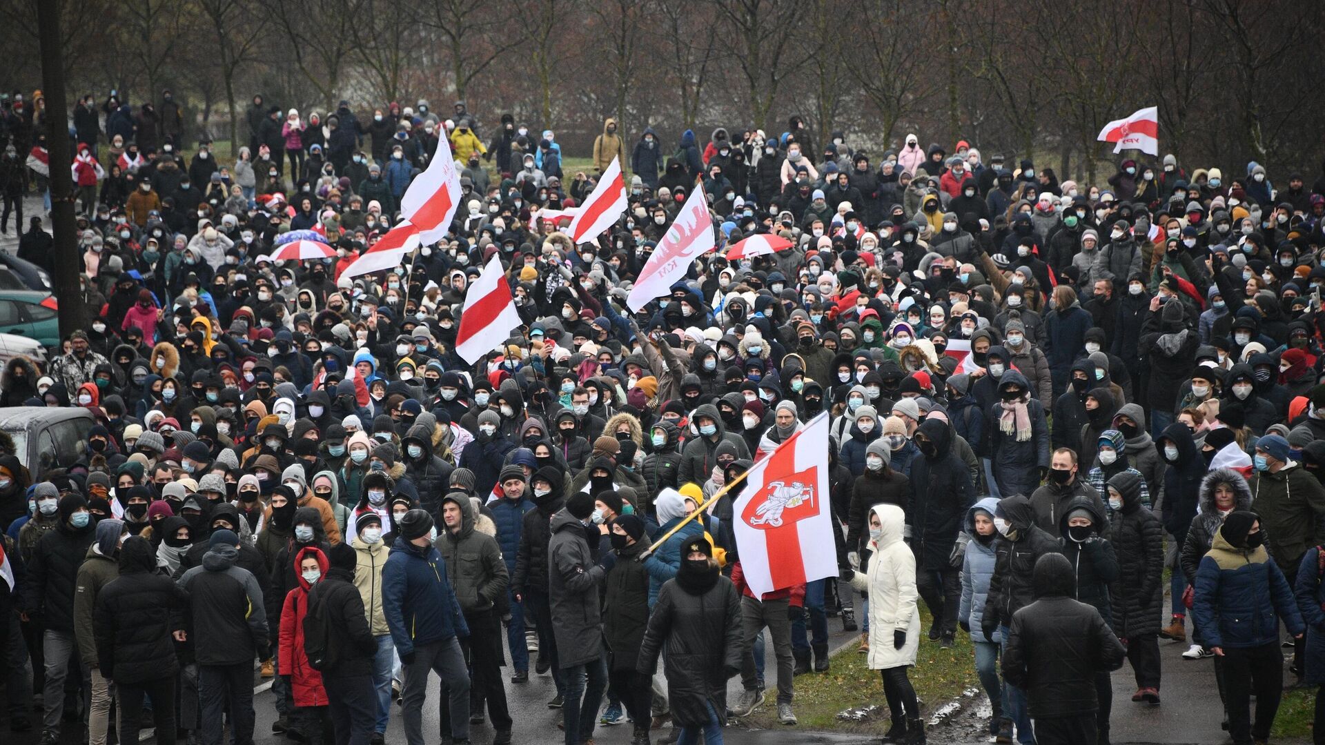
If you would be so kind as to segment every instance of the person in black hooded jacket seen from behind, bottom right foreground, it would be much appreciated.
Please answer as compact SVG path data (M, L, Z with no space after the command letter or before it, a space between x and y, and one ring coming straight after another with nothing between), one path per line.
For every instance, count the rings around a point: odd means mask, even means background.
M1039 745L1096 742L1094 680L1118 669L1125 651L1097 610L1072 599L1063 555L1036 559L1034 582L1036 601L1012 615L1003 676L1027 691Z

